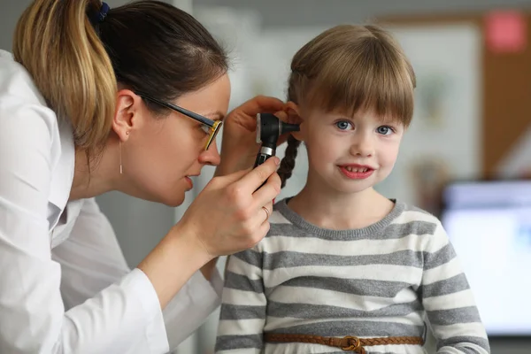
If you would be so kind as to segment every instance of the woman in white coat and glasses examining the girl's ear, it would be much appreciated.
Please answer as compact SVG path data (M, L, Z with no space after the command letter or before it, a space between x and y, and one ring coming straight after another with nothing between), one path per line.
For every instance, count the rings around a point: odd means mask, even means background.
M256 152L254 117L281 101L227 115L220 164L227 57L156 1L35 0L13 56L0 53L0 352L173 349L219 303L216 258L266 235L278 159L240 170ZM217 177L128 270L94 197L179 205L204 165Z

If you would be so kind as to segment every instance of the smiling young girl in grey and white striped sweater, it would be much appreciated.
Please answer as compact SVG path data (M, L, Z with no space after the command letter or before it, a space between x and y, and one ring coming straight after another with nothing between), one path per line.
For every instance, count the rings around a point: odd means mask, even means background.
M373 186L412 120L415 76L374 26L334 27L291 64L283 183L304 142L304 189L275 204L271 229L228 260L218 353L489 353L465 274L438 219ZM425 316L427 315L427 316Z

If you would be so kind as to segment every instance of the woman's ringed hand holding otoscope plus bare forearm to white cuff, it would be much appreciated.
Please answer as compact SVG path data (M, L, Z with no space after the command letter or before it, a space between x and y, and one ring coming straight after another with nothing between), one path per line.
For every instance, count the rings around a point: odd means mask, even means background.
M137 267L153 284L161 308L198 269L212 272L212 259L249 249L267 234L272 201L281 191L279 162L273 157L251 171L214 177L140 262Z

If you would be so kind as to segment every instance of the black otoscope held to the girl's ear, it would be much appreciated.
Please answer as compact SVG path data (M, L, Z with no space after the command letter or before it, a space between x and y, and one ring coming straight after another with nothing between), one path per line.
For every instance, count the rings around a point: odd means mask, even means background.
M266 162L267 158L274 156L279 136L289 132L297 132L298 124L284 123L271 113L258 113L257 117L257 142L262 143L255 161L255 167Z

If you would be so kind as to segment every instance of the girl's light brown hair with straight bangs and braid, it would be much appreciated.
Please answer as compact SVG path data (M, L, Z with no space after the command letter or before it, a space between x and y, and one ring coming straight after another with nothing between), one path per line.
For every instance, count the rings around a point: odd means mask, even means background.
M378 26L332 27L298 50L291 62L288 99L304 109L374 110L408 127L416 78L396 40ZM295 167L300 142L289 137L279 174L282 187Z

